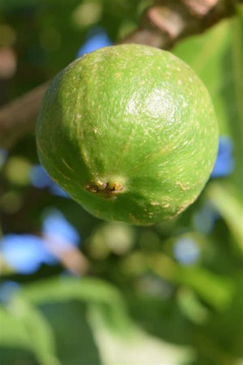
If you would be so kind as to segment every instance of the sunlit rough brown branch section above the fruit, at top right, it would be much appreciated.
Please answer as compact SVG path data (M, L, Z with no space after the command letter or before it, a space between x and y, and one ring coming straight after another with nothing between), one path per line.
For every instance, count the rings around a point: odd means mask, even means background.
M156 0L142 16L139 29L120 43L169 49L178 40L234 15L237 2L240 0Z

